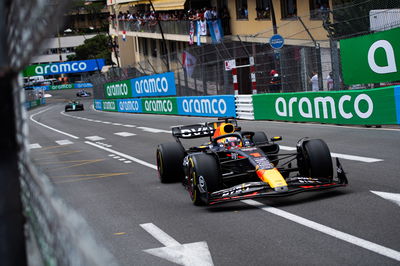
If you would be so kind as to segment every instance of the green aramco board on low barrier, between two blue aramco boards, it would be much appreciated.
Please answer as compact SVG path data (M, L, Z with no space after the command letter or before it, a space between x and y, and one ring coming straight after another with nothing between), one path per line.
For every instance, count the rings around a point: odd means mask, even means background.
M143 113L151 114L178 114L176 98L142 98Z

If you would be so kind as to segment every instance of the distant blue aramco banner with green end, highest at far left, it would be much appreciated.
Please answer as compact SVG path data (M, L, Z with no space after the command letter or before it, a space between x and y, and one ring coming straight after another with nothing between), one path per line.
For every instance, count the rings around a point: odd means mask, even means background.
M25 68L25 70L23 71L23 75L25 77L28 77L89 72L101 70L104 65L104 59L90 59L83 61L66 61L60 63L32 65Z

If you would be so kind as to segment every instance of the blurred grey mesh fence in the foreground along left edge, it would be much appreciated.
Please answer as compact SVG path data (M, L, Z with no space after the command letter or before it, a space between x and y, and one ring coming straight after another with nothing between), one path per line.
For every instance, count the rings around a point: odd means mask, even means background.
M26 243L15 246L26 246L29 265L116 265L111 253L96 242L87 222L65 204L49 178L36 168L28 150L28 113L24 103L26 97L29 100L35 96L29 93L25 95L22 78L18 78L18 73L40 51L42 40L54 32L57 25L63 23L60 18L63 17L68 2L12 0L2 1L0 4L0 11L5 15L4 23L0 26L1 52L4 56L1 74L2 78L9 79L12 84L11 88L2 89L12 90L18 178L25 220ZM12 242L14 241L16 240L13 239ZM5 244L3 242L2 245ZM13 252L18 253L15 250ZM11 259L3 258L0 261L12 265L10 261L15 262L18 259L12 258L12 254L9 257ZM20 260L21 263L22 261L23 259Z

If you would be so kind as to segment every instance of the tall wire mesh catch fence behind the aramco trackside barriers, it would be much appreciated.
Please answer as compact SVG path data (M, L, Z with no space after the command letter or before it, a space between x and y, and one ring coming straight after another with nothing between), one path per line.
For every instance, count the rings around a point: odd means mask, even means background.
M225 69L225 62L235 59L237 66L246 66L249 65L251 57L254 58L253 86L257 93L310 91L313 72L322 78L320 89L323 90L377 86L377 84L359 84L360 86L350 87L343 83L339 41L399 27L400 2L335 0L332 1L332 5L324 8L321 6L309 14L294 16L280 23L278 33L292 33L283 35L285 45L279 50L272 49L265 41L273 34L272 28L248 36L226 35L218 44L202 43L201 46L197 46L196 43L178 45L174 41L166 40L165 45L161 43L157 47L152 41L139 38L141 61L121 69L115 67L110 73L93 76L92 82L98 85L95 86L95 97L102 98L104 82L131 79L168 70L175 73L178 96L232 94L234 78L232 71ZM304 21L314 21L316 23L313 25L317 26L307 27L302 24ZM121 25L125 27L124 23L127 22L118 23L122 23ZM160 23L161 25L164 23L166 29L171 24L171 22ZM290 28L299 30L293 32L288 30ZM124 30L136 31L135 28L129 27ZM318 31L323 32L323 38ZM166 53L166 50L169 53ZM277 71L280 75L278 90L271 86L271 70ZM251 68L238 67L236 78L239 83L239 93L251 94Z

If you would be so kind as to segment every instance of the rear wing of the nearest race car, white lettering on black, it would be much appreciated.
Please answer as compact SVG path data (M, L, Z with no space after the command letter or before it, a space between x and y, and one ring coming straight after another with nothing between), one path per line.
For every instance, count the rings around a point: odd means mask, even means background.
M172 136L179 139L195 139L203 137L212 137L215 130L222 123L231 123L235 126L236 130L240 130L237 127L235 118L222 118L216 122L199 123L187 126L179 126L172 128Z

